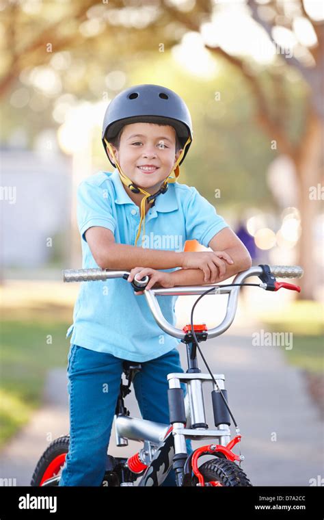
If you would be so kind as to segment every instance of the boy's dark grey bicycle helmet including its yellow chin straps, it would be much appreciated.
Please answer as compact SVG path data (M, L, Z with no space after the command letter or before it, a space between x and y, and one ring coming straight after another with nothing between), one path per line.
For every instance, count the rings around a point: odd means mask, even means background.
M181 148L183 148L172 169L174 177L171 177L172 172L170 172L163 181L160 189L152 195L135 185L135 183L122 172L109 142L109 140L113 140L117 137L122 127L135 122L150 122L174 127L178 141L180 142ZM102 142L105 152L113 167L118 169L122 183L128 186L132 192L144 194L141 200L141 220L139 222L139 231L135 239L135 246L137 245L137 239L141 233L141 223L143 221L143 235L145 234L146 200L148 200L148 203L154 205L155 198L167 191L167 183L176 182L180 174L179 166L187 155L192 141L192 135L192 122L187 105L176 92L173 92L173 90L169 88L152 84L136 85L123 90L109 103L103 120ZM111 161L107 148L114 162Z

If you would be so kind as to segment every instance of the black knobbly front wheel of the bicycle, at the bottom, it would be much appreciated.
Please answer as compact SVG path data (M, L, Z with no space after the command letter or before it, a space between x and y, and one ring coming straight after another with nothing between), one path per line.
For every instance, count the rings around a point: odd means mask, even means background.
M207 460L199 467L208 486L252 486L243 469L225 458ZM191 486L197 486L198 478L193 474Z

